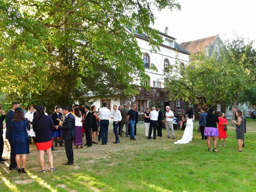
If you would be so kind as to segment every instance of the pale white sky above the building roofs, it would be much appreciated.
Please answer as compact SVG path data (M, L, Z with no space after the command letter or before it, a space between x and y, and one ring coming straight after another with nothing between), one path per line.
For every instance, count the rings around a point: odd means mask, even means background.
M255 0L178 0L181 10L154 11L158 18L153 28L169 35L178 43L216 34L225 41L234 35L256 40ZM256 43L254 42L254 48Z

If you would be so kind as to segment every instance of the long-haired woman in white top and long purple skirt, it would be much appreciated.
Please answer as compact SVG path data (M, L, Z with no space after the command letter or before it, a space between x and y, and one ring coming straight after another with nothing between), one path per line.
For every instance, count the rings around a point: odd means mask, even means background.
M78 146L80 145L80 148L83 148L83 136L82 136L82 115L81 112L77 107L74 107L74 117L75 117L75 126L76 126L76 138L74 139L74 146L76 146L76 149L78 149Z

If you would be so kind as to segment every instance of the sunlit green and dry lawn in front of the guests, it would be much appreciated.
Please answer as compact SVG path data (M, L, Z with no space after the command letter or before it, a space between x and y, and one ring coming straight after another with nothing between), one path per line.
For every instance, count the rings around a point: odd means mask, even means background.
M64 148L53 152L56 172L50 173L46 162L45 174L40 173L38 153L30 146L28 174L8 171L8 164L0 165L1 192L255 192L256 191L256 121L247 121L245 148L237 152L235 129L228 127L226 147L219 153L208 152L206 141L200 140L198 122L194 122L194 140L189 144L174 144L163 137L146 140L144 124L139 123L137 140L120 138L112 144L114 134L109 130L108 145L74 149L73 166L66 162ZM182 137L175 130L175 141ZM6 149L5 149L6 150ZM47 157L46 157L47 161ZM10 161L8 160L8 163ZM24 182L26 184L18 184Z

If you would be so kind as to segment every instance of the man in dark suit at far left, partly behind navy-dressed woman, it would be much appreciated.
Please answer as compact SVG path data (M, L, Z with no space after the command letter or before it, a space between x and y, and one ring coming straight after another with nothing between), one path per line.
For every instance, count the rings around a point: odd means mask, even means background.
M11 110L6 114L5 117L5 122L6 122L6 136L5 138L8 139L8 142L10 143L10 147L11 147L11 154L10 154L10 167L9 170L18 170L17 164L16 164L16 154L14 153L14 148L13 148L13 144L12 144L12 135L13 135L13 128L11 125L11 121L14 118L14 109L16 109L17 107L20 107L20 104L18 102L13 102L12 103L12 108Z

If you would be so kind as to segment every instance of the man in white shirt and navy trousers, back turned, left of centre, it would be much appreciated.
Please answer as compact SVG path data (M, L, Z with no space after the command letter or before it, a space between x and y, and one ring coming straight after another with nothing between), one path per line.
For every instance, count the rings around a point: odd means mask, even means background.
M111 116L111 112L107 107L107 103L104 102L102 104L103 108L99 109L99 117L100 117L100 132L102 138L102 145L106 145L108 142L108 126L109 126L109 118Z

